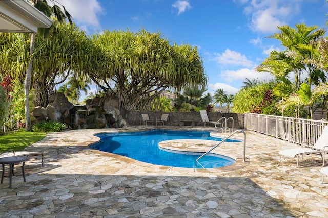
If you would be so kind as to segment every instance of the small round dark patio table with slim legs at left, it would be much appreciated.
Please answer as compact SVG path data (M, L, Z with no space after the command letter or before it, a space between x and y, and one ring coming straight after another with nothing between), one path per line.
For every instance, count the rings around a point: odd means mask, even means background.
M26 182L25 173L24 173L24 165L25 165L25 161L27 161L29 159L30 158L28 156L12 156L12 157L0 158L0 164L2 164L1 183L3 183L3 181L4 181L5 164L9 164L9 188L11 188L11 180L12 180L12 175L13 175L14 164L15 163L23 163L23 166L22 166L23 179L24 179L24 182Z

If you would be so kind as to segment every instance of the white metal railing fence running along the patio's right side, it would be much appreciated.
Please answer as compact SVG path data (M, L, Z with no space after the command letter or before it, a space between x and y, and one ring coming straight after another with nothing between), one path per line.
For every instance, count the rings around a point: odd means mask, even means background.
M327 125L328 122L321 120L245 113L244 128L301 144L315 143Z

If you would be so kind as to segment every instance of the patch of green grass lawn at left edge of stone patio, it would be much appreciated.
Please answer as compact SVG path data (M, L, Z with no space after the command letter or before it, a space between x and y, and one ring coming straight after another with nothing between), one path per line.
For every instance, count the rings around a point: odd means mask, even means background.
M0 153L8 150L22 151L25 147L42 140L45 132L10 132L0 135Z

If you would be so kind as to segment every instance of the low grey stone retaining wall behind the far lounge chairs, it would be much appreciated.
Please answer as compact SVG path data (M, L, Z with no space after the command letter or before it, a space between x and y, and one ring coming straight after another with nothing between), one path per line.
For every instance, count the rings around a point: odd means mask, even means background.
M147 113L150 119L154 119L154 125L156 125L156 118L160 119L163 113L169 114L169 123L165 122L165 125L170 126L191 126L197 124L201 121L199 112L149 112L149 111L127 111L122 116L126 120L128 125L138 126L140 125L141 114ZM221 117L233 117L234 119L234 129L244 129L244 114L237 113L220 113L220 112L211 112L208 113L210 120L219 120ZM181 121L184 120L184 121ZM222 122L221 122L222 123ZM142 125L145 125L142 123ZM161 124L162 125L162 124ZM203 126L204 124L199 124ZM206 126L213 126L212 124L207 124ZM232 127L232 119L229 119L227 122L227 127Z

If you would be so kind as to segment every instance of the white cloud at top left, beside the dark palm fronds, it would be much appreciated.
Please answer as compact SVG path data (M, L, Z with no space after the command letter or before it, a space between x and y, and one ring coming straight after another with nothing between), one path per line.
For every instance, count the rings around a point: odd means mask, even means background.
M49 5L52 4L52 1L48 2ZM98 16L104 14L105 11L97 0L57 0L56 2L65 7L74 22L92 28L100 27Z

